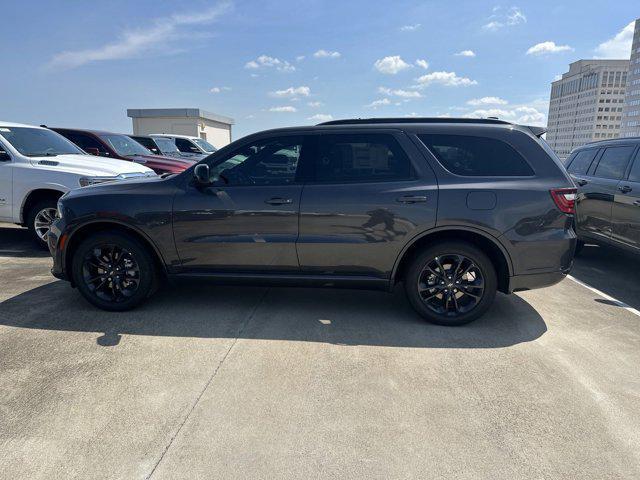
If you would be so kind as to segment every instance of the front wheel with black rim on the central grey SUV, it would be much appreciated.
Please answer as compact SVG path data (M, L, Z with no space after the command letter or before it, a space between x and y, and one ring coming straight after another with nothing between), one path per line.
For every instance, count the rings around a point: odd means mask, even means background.
M131 310L158 285L148 247L122 232L87 237L73 254L71 275L82 296L103 310Z

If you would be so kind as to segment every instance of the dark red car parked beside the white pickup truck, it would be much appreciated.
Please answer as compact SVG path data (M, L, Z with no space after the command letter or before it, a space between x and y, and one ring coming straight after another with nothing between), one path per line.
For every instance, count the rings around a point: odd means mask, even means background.
M121 133L73 128L51 130L71 140L91 155L140 163L158 174L180 173L195 163L194 159L189 158L154 155L131 137Z

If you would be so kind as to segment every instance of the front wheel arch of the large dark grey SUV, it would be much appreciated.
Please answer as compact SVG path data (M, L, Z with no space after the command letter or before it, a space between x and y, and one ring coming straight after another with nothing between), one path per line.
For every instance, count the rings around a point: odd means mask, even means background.
M116 231L126 233L142 242L143 245L150 249L151 257L153 258L153 263L156 266L157 272L164 276L167 275L166 263L164 261L164 257L162 256L162 253L160 252L156 244L144 232L131 225L118 222L117 220L100 219L86 222L81 226L75 228L67 239L67 245L64 251L64 270L67 273L67 278L69 278L70 281L73 281L71 275L71 262L73 259L73 253L75 252L75 250L77 250L80 243L82 243L82 241L89 235L103 231Z

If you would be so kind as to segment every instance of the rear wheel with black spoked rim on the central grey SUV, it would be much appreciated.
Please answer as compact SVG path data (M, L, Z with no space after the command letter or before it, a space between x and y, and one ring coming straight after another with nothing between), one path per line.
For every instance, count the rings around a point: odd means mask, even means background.
M454 272L448 275L452 269ZM498 280L493 263L482 250L454 241L437 243L420 252L405 274L404 286L420 316L431 323L454 326L472 322L487 311Z

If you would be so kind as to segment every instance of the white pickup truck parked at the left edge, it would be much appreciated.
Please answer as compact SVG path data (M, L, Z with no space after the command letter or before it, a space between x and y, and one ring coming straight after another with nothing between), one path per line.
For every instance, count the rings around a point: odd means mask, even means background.
M0 221L29 228L43 247L64 193L149 176L155 173L143 165L98 160L46 128L0 121Z

